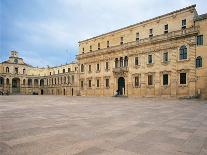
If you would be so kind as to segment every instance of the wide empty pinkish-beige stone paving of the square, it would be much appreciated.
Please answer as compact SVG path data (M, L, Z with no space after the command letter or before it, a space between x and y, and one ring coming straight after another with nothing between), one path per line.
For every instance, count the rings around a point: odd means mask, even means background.
M207 101L0 96L0 155L206 155Z

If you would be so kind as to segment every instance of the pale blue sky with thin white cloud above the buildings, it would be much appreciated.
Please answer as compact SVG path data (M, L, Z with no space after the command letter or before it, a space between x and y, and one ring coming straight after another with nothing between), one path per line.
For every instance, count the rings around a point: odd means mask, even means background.
M78 42L206 0L0 0L0 62L11 50L33 66L75 60Z

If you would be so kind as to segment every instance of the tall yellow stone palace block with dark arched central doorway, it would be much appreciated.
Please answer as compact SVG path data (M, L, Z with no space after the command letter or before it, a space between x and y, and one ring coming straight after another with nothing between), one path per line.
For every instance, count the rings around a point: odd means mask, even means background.
M80 94L206 97L207 14L195 7L80 41Z

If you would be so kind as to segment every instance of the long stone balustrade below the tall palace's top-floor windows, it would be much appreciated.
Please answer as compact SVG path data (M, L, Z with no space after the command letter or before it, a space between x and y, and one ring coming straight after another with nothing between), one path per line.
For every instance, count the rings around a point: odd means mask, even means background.
M94 55L101 55L101 54L104 54L105 52L110 53L110 52L114 52L114 51L121 50L121 49L133 48L133 47L147 45L151 43L158 43L158 42L166 41L169 39L177 39L177 38L181 38L184 36L195 35L198 33L198 30L199 30L199 27L190 27L184 30L173 31L173 32L153 36L150 38L140 39L139 41L128 42L123 45L112 46L109 48L104 48L104 49L100 49L100 50L96 50L96 51L92 51L92 52L88 52L84 54L79 54L76 57L77 59L81 59L81 58L91 57Z

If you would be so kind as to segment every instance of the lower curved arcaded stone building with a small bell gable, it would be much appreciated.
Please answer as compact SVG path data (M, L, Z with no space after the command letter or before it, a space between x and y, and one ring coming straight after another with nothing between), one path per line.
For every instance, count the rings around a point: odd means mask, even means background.
M74 96L78 90L76 63L38 68L24 63L18 52L11 51L9 60L0 64L0 91Z

